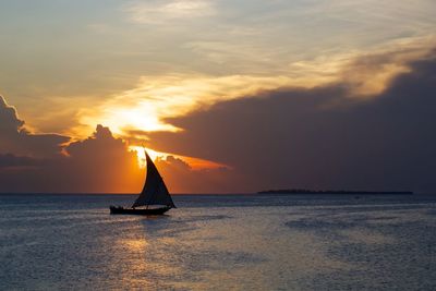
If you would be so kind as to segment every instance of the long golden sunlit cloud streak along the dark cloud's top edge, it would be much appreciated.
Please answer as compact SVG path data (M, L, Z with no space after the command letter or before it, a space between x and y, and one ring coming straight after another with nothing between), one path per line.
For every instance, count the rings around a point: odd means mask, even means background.
M138 129L177 132L181 128L169 122L171 118L206 110L217 102L287 87L298 90L341 86L349 98L370 99L380 95L396 76L409 72L413 60L427 56L431 44L435 44L433 38L403 39L371 53L291 63L280 75L142 77L135 88L114 95L98 107L81 110L78 120L82 124L94 124L98 120L116 134L125 136Z

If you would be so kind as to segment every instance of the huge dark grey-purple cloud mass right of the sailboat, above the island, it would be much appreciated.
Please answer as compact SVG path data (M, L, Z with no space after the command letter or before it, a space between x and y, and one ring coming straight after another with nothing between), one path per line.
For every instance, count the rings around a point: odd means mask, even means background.
M281 88L169 119L183 131L148 137L158 150L232 166L232 174L246 178L233 191L431 192L436 189L434 56L408 63L409 70L371 100L355 101L339 82Z

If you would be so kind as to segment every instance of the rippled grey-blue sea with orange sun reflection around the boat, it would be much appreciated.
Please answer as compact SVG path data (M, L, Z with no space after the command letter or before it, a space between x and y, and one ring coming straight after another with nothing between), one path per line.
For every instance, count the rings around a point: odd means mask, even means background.
M436 196L0 195L0 290L436 290Z

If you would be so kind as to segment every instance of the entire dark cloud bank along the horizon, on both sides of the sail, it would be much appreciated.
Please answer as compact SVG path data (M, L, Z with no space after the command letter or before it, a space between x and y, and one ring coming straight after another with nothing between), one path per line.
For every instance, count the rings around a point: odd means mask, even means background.
M154 148L233 169L193 171L158 160L175 192L277 187L436 190L436 59L410 64L379 96L350 98L347 86L281 89L171 119L181 133L148 133ZM144 172L123 141L36 135L0 99L0 192L137 192Z

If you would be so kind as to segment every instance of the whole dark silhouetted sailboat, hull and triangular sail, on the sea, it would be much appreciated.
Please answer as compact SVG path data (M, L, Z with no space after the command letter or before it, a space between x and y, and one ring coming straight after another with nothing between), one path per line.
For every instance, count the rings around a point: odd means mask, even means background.
M143 191L133 203L131 208L122 206L110 206L110 214L112 215L162 215L171 208L177 208L172 202L171 195L164 182L162 177L159 174L152 158L145 151L147 162L147 178ZM144 207L145 208L136 208Z

